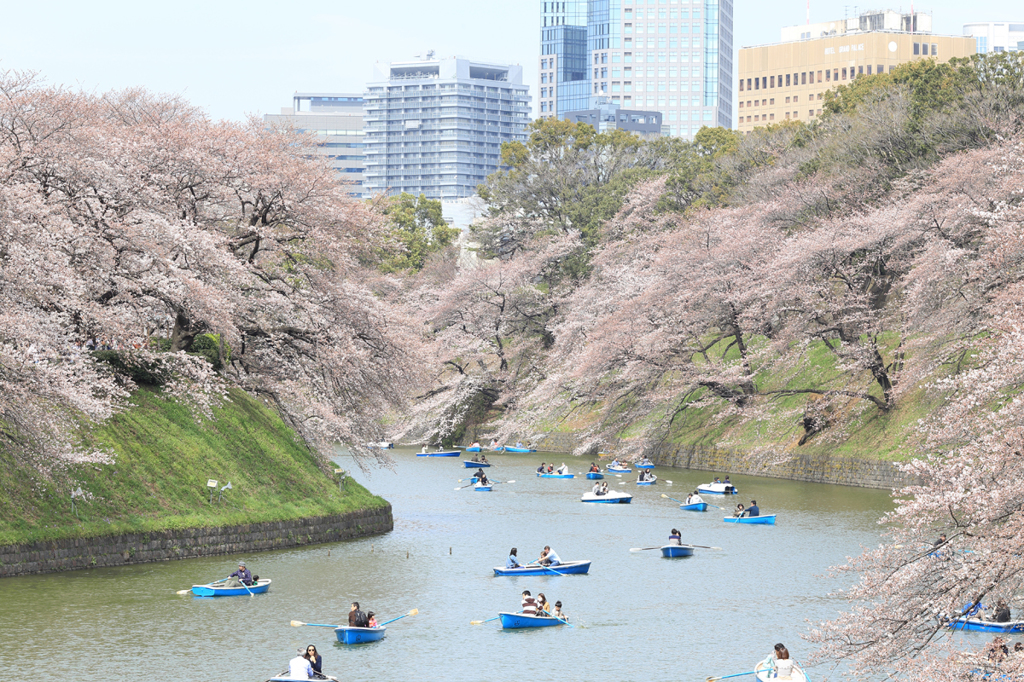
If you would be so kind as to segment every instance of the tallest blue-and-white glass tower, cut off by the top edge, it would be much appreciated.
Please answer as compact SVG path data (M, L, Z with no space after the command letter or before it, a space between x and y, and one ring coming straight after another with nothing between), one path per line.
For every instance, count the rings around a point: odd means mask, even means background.
M584 6L580 79L560 67L579 52ZM732 127L732 0L542 2L540 61L542 118L606 97L624 110L660 113L671 135Z

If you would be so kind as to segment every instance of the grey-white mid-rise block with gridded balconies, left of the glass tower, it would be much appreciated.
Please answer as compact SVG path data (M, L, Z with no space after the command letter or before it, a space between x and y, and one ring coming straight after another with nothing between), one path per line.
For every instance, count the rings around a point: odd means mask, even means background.
M525 140L522 67L457 57L374 68L365 97L365 191L472 197L501 165L503 142Z

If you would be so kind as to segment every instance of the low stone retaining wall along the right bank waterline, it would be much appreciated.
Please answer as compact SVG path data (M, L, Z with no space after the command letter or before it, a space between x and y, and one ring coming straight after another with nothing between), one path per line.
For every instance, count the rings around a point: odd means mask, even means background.
M569 453L575 445L577 439L572 433L549 433L537 443L536 447L543 452ZM852 457L791 455L784 462L768 464L765 463L765 458L753 458L740 452L703 445L660 449L651 453L649 457L655 464L681 469L788 478L856 487L893 488L914 482L892 462Z

